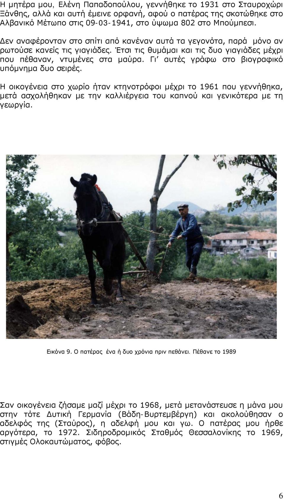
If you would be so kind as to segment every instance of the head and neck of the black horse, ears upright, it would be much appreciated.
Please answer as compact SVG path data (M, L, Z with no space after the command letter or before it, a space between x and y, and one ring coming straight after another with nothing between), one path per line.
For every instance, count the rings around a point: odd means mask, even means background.
M80 230L83 236L91 236L94 227L96 227L97 219L103 213L102 200L95 187L97 176L83 173L79 181L71 177L70 182L76 187L74 200L77 204L77 217Z

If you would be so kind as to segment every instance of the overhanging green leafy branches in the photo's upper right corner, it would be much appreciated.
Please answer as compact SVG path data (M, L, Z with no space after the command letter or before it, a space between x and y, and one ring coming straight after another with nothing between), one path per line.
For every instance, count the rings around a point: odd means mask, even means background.
M259 155L259 154L241 154L234 158L226 158L225 154L214 156L215 161L220 168L227 168L227 166L248 165L251 171L244 175L243 182L245 185L236 189L237 196L241 199L228 203L228 211L234 211L246 204L248 206L256 206L258 204L266 205L268 201L275 200L275 193L277 192L277 156L272 155ZM263 189L262 184L264 179L269 181L267 188ZM253 203L253 205L252 205Z

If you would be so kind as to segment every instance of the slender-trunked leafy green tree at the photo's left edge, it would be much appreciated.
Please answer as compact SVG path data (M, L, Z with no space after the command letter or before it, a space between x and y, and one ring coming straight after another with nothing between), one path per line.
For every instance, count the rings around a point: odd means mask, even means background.
M20 217L14 210L33 197L28 187L38 170L35 157L35 154L6 156L6 280L10 280L9 240L20 230Z

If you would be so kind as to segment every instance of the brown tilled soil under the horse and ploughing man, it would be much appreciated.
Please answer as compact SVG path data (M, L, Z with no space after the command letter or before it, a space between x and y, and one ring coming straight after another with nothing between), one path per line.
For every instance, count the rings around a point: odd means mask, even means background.
M276 338L276 282L123 281L124 302L86 276L7 283L7 338Z

